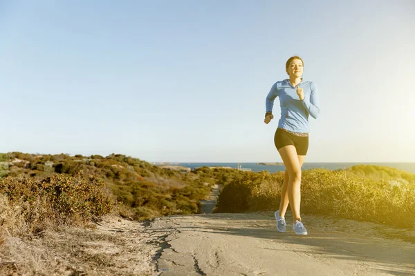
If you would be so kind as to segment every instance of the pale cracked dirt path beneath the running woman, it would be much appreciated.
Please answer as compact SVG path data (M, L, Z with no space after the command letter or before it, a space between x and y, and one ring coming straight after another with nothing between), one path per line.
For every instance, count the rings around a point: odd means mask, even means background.
M290 217L286 218L290 221ZM291 218L292 219L292 218ZM415 275L415 231L303 216L308 235L275 228L273 212L178 215L146 232L163 247L158 275Z

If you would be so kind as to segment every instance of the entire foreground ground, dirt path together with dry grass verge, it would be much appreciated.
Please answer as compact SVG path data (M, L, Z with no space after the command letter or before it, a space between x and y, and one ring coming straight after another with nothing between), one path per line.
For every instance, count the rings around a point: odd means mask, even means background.
M1 241L0 275L415 275L414 230L314 215L303 221L305 237L289 227L277 232L273 212L145 224L108 216L91 229Z

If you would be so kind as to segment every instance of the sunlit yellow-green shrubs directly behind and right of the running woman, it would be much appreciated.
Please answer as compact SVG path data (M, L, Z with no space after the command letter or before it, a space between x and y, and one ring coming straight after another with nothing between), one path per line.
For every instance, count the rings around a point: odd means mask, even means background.
M225 184L216 213L277 210L283 172L249 172ZM385 166L302 172L302 213L415 228L415 175Z

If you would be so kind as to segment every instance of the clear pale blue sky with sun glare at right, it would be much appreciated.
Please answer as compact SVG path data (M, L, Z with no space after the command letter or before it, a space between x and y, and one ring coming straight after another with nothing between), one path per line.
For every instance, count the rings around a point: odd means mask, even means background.
M306 162L415 162L415 1L0 0L0 152L281 161L266 95L304 60Z

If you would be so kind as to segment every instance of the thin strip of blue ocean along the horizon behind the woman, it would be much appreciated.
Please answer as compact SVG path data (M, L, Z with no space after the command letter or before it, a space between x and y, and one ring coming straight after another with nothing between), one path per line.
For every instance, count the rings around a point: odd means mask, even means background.
M192 170L197 167L214 167L224 166L231 168L238 168L238 164L241 168L250 168L252 172L260 172L261 170L268 170L268 172L280 172L285 170L285 166L279 165L259 165L257 163L178 163L180 166L190 167ZM415 163L304 163L302 170L310 170L313 168L325 168L327 170L346 169L355 165L374 165L374 166L387 166L389 168L396 168L398 170L405 170L406 172L415 173Z

